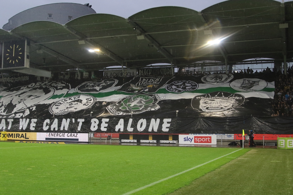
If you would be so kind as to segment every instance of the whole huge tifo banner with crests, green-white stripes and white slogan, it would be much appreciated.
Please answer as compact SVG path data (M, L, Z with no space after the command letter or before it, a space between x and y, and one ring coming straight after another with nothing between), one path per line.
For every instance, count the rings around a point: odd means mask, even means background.
M257 133L264 134L291 131L292 120L268 118L274 76L245 76L129 76L22 86L2 83L0 130L158 134L234 134L243 128L258 128ZM284 125L268 128L272 122Z

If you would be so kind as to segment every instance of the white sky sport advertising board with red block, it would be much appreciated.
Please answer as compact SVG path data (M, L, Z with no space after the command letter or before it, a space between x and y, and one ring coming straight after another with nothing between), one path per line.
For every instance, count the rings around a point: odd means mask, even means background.
M179 144L217 145L216 135L179 135Z

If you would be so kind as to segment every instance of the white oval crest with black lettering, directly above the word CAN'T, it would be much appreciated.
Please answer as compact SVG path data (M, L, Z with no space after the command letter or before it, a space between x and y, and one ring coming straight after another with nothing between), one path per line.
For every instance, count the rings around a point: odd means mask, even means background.
M85 110L92 107L95 102L96 99L91 95L74 95L52 104L49 111L51 114L62 115L79 110Z

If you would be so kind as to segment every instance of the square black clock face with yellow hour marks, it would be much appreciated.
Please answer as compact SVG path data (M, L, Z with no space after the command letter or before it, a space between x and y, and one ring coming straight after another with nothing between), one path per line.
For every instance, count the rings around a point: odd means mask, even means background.
M3 45L2 68L24 67L25 62L25 40L5 42Z

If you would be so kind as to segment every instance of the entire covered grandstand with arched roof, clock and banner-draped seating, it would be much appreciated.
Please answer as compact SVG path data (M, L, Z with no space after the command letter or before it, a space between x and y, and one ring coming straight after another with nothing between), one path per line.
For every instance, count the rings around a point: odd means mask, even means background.
M128 18L71 3L21 12L0 29L1 130L154 137L137 143L242 129L290 135L282 96L292 95L292 4L230 0ZM251 72L257 63L273 68Z

